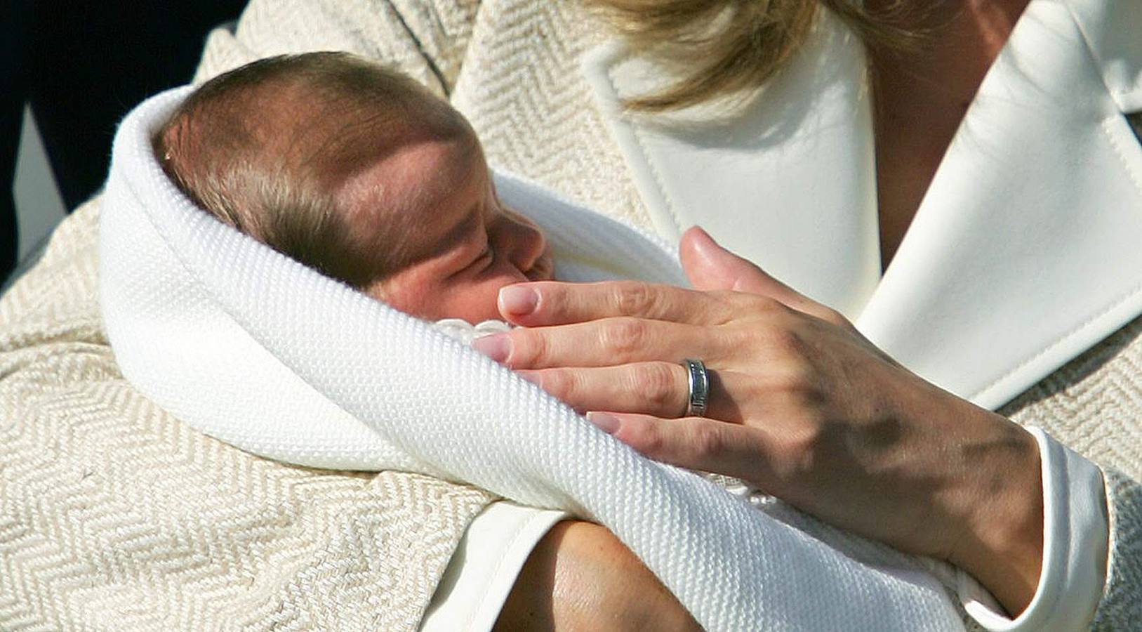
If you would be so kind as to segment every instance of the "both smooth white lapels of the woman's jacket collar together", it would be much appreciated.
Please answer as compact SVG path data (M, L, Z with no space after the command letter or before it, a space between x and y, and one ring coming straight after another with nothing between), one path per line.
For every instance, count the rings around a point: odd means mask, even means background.
M705 129L620 115L644 61L612 47L585 70L660 232L705 225L998 407L1142 312L1142 149L1121 115L1142 106L1140 25L1137 3L1032 0L883 279L863 56L836 19Z

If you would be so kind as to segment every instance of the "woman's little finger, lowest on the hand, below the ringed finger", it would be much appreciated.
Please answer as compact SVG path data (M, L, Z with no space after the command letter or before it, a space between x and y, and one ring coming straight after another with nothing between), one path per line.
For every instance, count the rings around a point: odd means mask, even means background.
M765 433L706 417L664 419L630 413L587 415L593 424L654 461L754 482L773 480Z

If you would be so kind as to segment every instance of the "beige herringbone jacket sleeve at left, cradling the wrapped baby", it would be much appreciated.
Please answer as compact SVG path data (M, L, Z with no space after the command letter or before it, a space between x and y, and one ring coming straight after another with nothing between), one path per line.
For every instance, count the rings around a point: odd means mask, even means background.
M344 48L444 91L474 9L255 1L198 77ZM416 630L491 496L257 458L136 393L102 331L98 205L0 301L0 631Z

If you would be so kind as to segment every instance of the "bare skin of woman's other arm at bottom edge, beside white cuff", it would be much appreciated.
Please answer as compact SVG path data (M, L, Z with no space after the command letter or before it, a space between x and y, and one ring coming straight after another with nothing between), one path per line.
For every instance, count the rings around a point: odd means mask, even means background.
M690 613L611 531L564 521L532 550L497 632L654 630L697 632Z

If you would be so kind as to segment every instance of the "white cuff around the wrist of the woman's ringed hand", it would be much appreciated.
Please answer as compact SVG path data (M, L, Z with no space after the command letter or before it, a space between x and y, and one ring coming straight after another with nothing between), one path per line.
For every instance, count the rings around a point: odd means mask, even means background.
M1037 427L1043 461L1043 570L1031 603L1012 619L995 598L958 573L964 608L992 632L1086 630L1102 597L1110 522L1099 467Z

